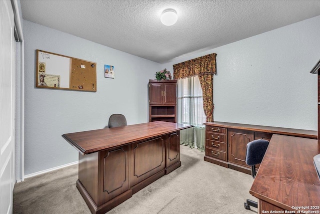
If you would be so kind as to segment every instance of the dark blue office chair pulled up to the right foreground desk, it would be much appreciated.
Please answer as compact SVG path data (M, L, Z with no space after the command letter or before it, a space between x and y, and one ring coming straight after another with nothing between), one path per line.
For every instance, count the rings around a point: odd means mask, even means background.
M246 144L245 163L246 165L251 166L251 175L253 178L255 178L256 175L255 165L262 162L268 144L269 141L267 140L253 140ZM258 204L253 200L246 199L244 208L250 209L250 206L257 208Z

